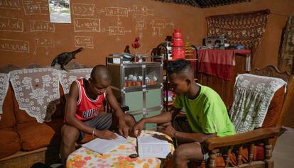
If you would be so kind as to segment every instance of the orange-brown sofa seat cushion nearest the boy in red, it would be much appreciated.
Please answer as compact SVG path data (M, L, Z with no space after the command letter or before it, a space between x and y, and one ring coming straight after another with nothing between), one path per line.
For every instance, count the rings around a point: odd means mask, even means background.
M58 124L60 122L53 125L58 127ZM62 125L62 122L60 125ZM58 130L58 128L53 128L47 123L30 122L17 125L17 133L21 139L22 150L36 150L40 147L56 144L58 133L55 130Z

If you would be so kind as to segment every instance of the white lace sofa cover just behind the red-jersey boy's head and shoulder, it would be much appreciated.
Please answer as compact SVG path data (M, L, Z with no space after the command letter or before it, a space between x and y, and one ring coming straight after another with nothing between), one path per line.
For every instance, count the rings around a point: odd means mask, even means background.
M72 69L68 72L60 72L60 84L66 95L68 94L68 92L70 92L70 85L72 84L72 82L75 81L75 79L80 79L82 77L85 79L89 79L92 68Z

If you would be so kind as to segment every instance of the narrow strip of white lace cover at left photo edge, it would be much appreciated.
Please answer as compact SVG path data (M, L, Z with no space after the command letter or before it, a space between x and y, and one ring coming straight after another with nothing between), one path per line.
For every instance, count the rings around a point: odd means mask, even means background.
M0 114L3 113L2 106L9 88L9 74L0 73ZM1 120L1 116L0 116Z

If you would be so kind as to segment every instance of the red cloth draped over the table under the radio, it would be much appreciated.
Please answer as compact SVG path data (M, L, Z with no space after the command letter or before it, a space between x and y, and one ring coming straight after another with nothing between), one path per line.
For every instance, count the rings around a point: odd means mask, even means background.
M250 50L198 50L199 72L211 74L220 79L231 80L236 53L249 55Z

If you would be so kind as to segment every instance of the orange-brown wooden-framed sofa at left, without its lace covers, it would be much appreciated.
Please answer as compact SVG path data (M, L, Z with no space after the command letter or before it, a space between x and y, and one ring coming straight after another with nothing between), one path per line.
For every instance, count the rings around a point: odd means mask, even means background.
M26 68L36 68L30 65ZM67 66L67 69L85 68L77 62ZM1 73L19 69L8 65L0 69ZM60 104L52 116L52 121L38 123L36 118L28 116L26 111L19 109L18 102L11 84L6 93L3 113L0 120L0 167L31 167L36 162L47 165L60 162L60 128L63 125L65 109L65 94L60 85ZM83 142L89 141L89 137Z

